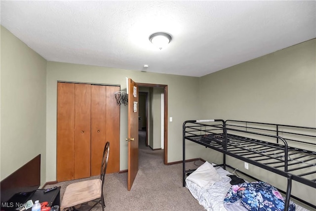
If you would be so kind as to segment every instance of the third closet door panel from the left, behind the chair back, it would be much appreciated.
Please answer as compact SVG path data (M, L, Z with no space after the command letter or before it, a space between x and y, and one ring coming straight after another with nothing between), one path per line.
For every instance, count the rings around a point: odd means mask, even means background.
M106 143L106 90L105 85L91 86L91 176L100 175Z

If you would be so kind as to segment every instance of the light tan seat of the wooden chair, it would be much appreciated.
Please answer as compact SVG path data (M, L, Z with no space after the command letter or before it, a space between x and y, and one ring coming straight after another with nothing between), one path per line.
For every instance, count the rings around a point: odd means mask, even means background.
M101 179L76 182L67 186L60 210L101 198Z

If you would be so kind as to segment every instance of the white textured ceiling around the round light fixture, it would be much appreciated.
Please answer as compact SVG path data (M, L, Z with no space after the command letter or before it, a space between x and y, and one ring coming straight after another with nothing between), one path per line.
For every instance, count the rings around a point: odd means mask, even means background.
M184 76L316 38L315 0L1 0L0 9L1 25L48 61ZM155 32L172 35L166 48L149 42Z

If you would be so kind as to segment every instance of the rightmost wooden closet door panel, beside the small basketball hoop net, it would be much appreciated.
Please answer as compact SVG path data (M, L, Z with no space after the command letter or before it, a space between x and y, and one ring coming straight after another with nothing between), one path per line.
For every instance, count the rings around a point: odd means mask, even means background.
M119 105L114 92L119 91L119 86L107 86L106 140L110 142L109 162L107 173L119 171Z

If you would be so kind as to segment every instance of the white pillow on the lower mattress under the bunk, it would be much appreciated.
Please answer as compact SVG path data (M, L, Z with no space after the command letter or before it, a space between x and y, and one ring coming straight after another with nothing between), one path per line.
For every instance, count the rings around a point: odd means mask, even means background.
M200 187L207 187L209 185L213 185L221 178L221 175L217 173L216 169L206 161L193 171L186 179L196 183Z

